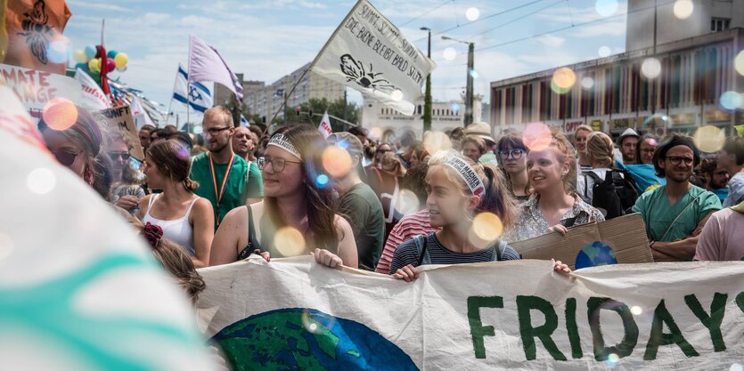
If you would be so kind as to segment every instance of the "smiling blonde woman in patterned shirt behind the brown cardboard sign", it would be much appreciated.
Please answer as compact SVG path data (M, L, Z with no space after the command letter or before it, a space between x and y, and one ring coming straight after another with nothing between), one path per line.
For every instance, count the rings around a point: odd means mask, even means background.
M552 231L565 236L575 225L604 221L599 210L576 195L577 167L574 149L560 133L552 136L547 148L529 151L527 177L536 196L522 204L522 214L507 241Z

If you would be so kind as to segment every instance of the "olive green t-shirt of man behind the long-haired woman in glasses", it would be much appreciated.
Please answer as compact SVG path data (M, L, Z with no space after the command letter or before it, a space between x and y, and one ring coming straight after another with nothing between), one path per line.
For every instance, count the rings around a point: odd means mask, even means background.
M385 243L385 215L380 199L370 186L359 183L341 198L339 211L354 230L359 267L374 270Z

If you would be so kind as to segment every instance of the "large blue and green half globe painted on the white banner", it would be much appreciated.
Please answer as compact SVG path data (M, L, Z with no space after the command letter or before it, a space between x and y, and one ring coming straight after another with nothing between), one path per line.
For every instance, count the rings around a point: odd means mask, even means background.
M418 370L369 327L311 309L256 314L223 328L210 342L236 370Z

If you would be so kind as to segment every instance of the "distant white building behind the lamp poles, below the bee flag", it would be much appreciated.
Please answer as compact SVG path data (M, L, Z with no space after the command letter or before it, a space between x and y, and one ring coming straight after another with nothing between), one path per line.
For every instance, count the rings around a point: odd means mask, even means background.
M483 120L481 102L483 96L476 94L473 99L473 122ZM405 116L395 109L388 108L380 102L364 97L362 104L362 127L382 138L398 136L405 130L413 130L421 139L423 132L424 97L415 102L416 109L412 116ZM455 127L462 127L465 120L465 103L463 101L434 101L431 103L431 130L446 132Z

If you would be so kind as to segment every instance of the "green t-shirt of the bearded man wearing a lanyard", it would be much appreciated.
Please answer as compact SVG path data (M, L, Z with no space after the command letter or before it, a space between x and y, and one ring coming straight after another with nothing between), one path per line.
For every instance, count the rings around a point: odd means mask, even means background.
M252 164L251 167L255 166ZM258 167L256 167L258 171ZM215 173L217 175L217 188L222 185L225 178L227 164L215 164ZM258 173L260 175L260 173ZM241 157L235 156L233 159L233 169L230 171L229 178L225 182L225 192L217 208L217 194L215 185L212 180L212 173L209 170L209 157L207 153L201 153L192 158L193 181L199 183L199 188L194 191L197 196L207 198L215 209L215 229L217 230L218 220L221 222L225 219L225 214L233 208L244 206L246 199L253 197L263 197L264 187L260 176L258 179L252 177L249 173L249 165ZM258 185L256 185L258 183Z

